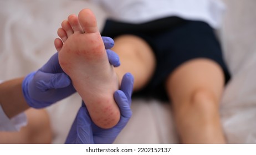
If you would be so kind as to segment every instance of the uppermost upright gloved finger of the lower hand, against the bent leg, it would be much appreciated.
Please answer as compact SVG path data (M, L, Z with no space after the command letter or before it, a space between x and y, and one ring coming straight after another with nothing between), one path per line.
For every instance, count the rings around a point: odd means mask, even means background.
M125 93L130 104L131 104L131 95L132 95L133 87L134 87L134 76L132 76L131 73L126 73L122 77L120 90Z

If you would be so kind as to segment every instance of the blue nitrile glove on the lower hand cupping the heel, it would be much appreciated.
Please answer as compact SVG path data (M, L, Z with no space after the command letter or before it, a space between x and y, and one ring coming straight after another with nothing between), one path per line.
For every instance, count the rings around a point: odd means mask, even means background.
M132 115L130 106L133 85L134 77L130 73L126 73L122 79L120 90L114 93L114 99L121 113L120 121L116 126L109 129L96 126L91 121L89 112L84 102L82 102L65 143L94 144L114 142Z

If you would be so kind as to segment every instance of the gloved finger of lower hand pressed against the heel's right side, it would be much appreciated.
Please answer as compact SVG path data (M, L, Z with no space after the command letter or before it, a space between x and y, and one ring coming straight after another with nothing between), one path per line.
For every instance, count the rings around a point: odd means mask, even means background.
M114 99L116 101L116 104L119 106L121 115L126 118L130 118L132 115L130 101L127 99L124 92L122 92L121 90L115 91Z

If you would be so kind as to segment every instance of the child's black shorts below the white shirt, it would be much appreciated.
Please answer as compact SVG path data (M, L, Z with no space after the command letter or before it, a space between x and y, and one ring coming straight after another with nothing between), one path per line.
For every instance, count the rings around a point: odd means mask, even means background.
M221 45L214 30L207 23L178 17L167 17L142 24L106 20L101 33L113 39L124 34L144 39L151 46L157 60L151 81L137 95L167 99L163 87L166 77L181 64L196 58L216 61L223 69L226 82L230 78Z

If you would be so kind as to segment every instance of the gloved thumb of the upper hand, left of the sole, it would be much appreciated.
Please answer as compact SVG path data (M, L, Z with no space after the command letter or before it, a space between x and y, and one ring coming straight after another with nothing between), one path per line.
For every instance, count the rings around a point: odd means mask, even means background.
M37 71L34 78L37 79L37 87L42 91L64 88L71 84L69 76L64 73L52 74Z

